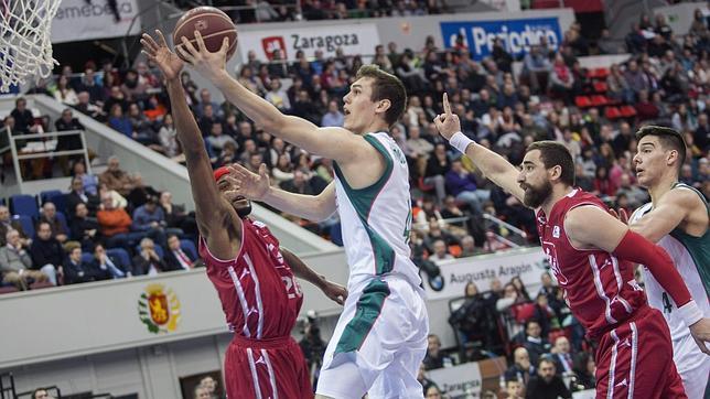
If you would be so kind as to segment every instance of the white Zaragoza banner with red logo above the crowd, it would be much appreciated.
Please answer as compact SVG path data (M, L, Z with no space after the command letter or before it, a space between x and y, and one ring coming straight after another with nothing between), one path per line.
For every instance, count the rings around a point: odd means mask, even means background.
M249 51L256 53L257 60L271 60L273 51L281 50L289 61L295 60L299 50L306 57L314 56L315 51L320 50L327 58L334 56L338 47L343 48L344 54L374 54L378 44L379 34L374 23L239 32L243 60L247 60Z

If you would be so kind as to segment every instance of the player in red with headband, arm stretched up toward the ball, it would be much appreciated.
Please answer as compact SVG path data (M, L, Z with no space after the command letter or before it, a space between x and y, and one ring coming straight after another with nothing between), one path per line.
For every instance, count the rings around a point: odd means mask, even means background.
M169 50L162 33L157 33L160 44L143 34L143 53L166 79L195 201L200 255L235 333L225 355L227 396L312 398L305 359L290 335L303 302L293 276L312 282L340 304L347 293L280 248L263 224L247 217L251 205L244 197L228 194L232 186L224 177L226 168L213 174L180 82L183 62Z

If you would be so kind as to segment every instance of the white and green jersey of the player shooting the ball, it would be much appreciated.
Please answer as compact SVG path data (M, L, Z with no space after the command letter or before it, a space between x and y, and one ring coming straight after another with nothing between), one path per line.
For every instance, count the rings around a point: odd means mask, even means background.
M335 194L343 244L349 265L349 287L378 276L399 274L415 287L419 270L409 258L411 197L407 160L387 132L367 133L365 140L385 159L383 176L373 185L352 188L337 163Z

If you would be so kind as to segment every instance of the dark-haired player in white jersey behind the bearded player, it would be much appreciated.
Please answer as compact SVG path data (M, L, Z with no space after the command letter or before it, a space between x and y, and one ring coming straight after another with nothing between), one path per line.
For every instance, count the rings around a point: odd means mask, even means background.
M678 182L686 159L686 142L676 130L657 126L643 127L636 139L637 153L633 161L638 184L648 190L650 203L634 212L628 220L631 229L668 252L691 296L703 315L710 317L710 208L699 191ZM673 299L645 267L642 270L648 304L663 313L670 328L674 362L686 393L689 399L703 398L710 357L693 342Z

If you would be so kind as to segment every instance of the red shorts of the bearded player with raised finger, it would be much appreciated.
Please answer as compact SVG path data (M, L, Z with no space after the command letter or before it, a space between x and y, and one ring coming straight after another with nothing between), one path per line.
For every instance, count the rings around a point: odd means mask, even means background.
M602 335L596 349L596 398L687 398L660 312L645 306Z

